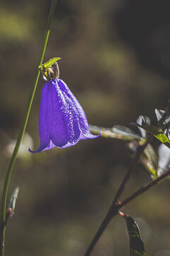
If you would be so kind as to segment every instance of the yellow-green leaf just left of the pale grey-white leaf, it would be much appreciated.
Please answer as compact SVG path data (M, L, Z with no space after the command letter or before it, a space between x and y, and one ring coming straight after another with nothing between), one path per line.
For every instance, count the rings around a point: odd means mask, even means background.
M151 174L153 178L157 178L158 159L151 144L147 144L144 153L140 157L140 161L145 166L149 174Z

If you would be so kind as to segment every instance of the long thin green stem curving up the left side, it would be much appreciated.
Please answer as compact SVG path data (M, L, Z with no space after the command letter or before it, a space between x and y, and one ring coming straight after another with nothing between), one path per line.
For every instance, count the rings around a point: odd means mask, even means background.
M47 41L50 35L50 26L51 26L51 22L52 22L52 17L54 16L55 13L55 6L57 4L57 0L52 0L52 4L51 4L51 9L50 9L50 14L48 16L48 20L47 20L47 26L45 28L45 36L44 36L44 40L42 43L42 49L40 52L40 58L38 60L38 65L36 67L35 70L35 78L33 80L33 87L30 90L30 94L28 97L28 103L26 105L26 110L23 116L23 122L21 124L21 129L18 133L18 137L17 137L17 141L16 141L16 146L13 150L13 154L11 156L11 161L9 163L8 166L8 170L6 173L6 178L4 181L4 190L3 190L3 194L2 194L2 201L1 201L1 219L0 219L0 256L4 256L4 240L5 240L5 218L6 218L6 198L7 198L7 193L8 193L8 185L9 185L9 181L11 178L11 173L13 170L13 166L15 164L16 161L16 156L18 154L18 150L19 147L21 145L22 139L23 139L23 134L25 133L26 130L26 125L28 122L28 117L30 114L30 108L31 105L33 103L33 97L35 95L35 90L38 84L38 79L40 76L40 71L38 70L38 67L42 64L42 60L44 58L45 55L45 49L47 46Z

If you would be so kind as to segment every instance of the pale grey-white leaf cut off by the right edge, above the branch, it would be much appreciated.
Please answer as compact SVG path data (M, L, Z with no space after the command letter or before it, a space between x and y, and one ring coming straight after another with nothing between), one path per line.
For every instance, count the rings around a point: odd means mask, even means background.
M158 176L170 168L170 149L161 144L158 148Z

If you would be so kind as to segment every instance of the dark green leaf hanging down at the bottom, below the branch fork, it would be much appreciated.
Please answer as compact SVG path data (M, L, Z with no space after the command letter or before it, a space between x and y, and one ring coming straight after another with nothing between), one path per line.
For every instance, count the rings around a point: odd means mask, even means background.
M140 238L140 228L135 220L128 215L125 215L125 221L130 238L130 256L145 256L144 243Z

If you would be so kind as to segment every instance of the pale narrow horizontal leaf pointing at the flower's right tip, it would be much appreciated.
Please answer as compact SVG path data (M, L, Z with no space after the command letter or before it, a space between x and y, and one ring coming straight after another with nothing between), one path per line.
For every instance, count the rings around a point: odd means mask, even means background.
M128 127L124 127L122 125L115 125L113 128L104 128L104 127L96 127L94 125L90 125L90 130L94 134L100 134L102 137L113 138L113 139L123 139L123 140L134 140L143 141L140 135L133 132Z

